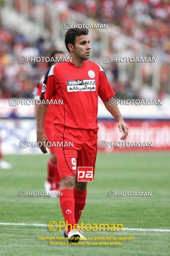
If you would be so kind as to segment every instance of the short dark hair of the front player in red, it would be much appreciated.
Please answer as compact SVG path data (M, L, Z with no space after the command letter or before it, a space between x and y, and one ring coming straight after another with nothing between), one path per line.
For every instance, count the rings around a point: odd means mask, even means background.
M79 37L81 35L88 35L88 29L68 29L65 33L65 47L68 52L68 44L75 46L75 37Z

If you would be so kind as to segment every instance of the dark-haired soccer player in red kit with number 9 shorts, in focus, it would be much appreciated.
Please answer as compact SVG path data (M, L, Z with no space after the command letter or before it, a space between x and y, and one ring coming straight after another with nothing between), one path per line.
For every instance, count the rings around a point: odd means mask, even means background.
M112 90L102 68L87 61L90 54L87 29L69 29L65 34L65 46L70 53L71 62L62 62L51 66L43 82L44 91L40 99L63 100L56 104L54 119L55 142L61 147L55 147L58 171L61 178L62 196L59 197L60 207L65 220L69 223L64 235L68 241L77 242L84 239L79 230L72 228L78 223L87 194L87 182L77 181L78 167L92 167L95 170L97 149L97 98L103 101L106 109L117 120L120 138L127 137L127 126L117 105L109 106L109 99L115 93ZM37 110L37 142L46 142L43 132L43 122L46 105L38 105ZM73 147L65 147L73 142ZM58 144L57 144L58 145ZM45 154L46 147L40 147ZM75 227L75 226L74 226Z

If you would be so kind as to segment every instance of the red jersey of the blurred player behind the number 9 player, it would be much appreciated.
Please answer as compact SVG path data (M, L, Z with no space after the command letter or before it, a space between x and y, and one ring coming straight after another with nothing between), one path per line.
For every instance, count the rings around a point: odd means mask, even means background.
M38 98L41 95L42 92L42 83L44 81L44 76L42 76L36 83L34 90L33 90L33 95L34 98ZM55 107L52 104L48 104L47 110L46 110L46 115L45 115L45 120L44 120L44 126L45 127L49 127L52 126L53 127L53 120L55 119Z

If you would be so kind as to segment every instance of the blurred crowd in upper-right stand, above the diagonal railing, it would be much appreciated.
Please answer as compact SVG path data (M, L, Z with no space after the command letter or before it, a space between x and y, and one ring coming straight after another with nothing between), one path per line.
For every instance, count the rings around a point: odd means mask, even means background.
M170 53L168 0L73 0L69 7L100 23L114 24L122 34Z

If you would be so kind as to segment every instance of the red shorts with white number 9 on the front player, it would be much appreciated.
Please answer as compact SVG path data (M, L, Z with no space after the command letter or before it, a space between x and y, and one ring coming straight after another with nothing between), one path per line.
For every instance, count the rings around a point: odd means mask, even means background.
M55 125L54 141L60 178L76 175L79 166L93 167L94 176L97 131Z

